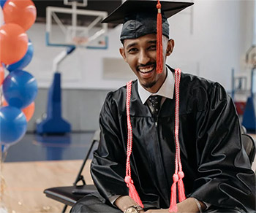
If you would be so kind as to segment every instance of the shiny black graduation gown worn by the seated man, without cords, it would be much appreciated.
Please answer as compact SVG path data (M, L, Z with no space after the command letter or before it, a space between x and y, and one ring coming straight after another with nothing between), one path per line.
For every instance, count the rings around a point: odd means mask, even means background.
M110 92L99 117L101 139L91 175L103 198L128 195L124 182L127 159L126 87ZM166 98L154 120L132 82L130 117L132 179L143 204L170 205L175 170L175 97ZM233 101L217 82L181 73L181 163L187 197L219 208L255 211L255 174L241 144ZM148 206L148 205L147 205Z

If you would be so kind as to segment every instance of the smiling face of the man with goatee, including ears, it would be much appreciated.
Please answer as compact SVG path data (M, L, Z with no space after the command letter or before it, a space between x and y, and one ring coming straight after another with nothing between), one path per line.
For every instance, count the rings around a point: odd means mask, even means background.
M173 40L163 36L163 58L173 51ZM157 74L157 35L147 34L138 39L125 39L120 53L132 71L138 77L140 84L151 93L156 93L165 81L166 69L163 66L161 74Z

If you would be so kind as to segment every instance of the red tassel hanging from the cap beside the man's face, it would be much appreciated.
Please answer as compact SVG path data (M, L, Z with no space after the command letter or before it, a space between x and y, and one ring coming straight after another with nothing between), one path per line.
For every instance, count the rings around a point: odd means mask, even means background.
M162 13L161 3L157 3L157 73L162 73L163 58L162 58Z

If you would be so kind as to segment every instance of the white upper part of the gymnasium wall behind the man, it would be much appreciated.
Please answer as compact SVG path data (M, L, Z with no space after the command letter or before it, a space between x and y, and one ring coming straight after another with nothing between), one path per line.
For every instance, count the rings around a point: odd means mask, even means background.
M254 1L194 2L193 9L186 9L169 20L170 37L176 46L167 63L181 71L218 81L230 90L231 69L242 69L241 58L251 44L252 23L249 20L253 17ZM64 61L60 69L64 88L115 89L129 80L104 79L102 74L103 58L121 57L118 53L120 31L121 26L110 30L108 50L79 49ZM26 70L34 74L39 87L48 87L53 58L64 47L45 46L45 26L42 24L34 24L28 34L35 50Z

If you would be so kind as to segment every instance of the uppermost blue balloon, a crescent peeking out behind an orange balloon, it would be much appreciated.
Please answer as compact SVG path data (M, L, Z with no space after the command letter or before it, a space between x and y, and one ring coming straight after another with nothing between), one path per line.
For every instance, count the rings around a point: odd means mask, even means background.
M16 63L12 63L9 66L7 66L7 69L9 71L12 71L15 69L23 69L32 60L33 53L34 53L34 47L33 47L33 44L31 43L31 41L29 40L29 47L28 47L28 50L26 51L26 54L24 55L24 57L21 58L20 61L18 61Z

